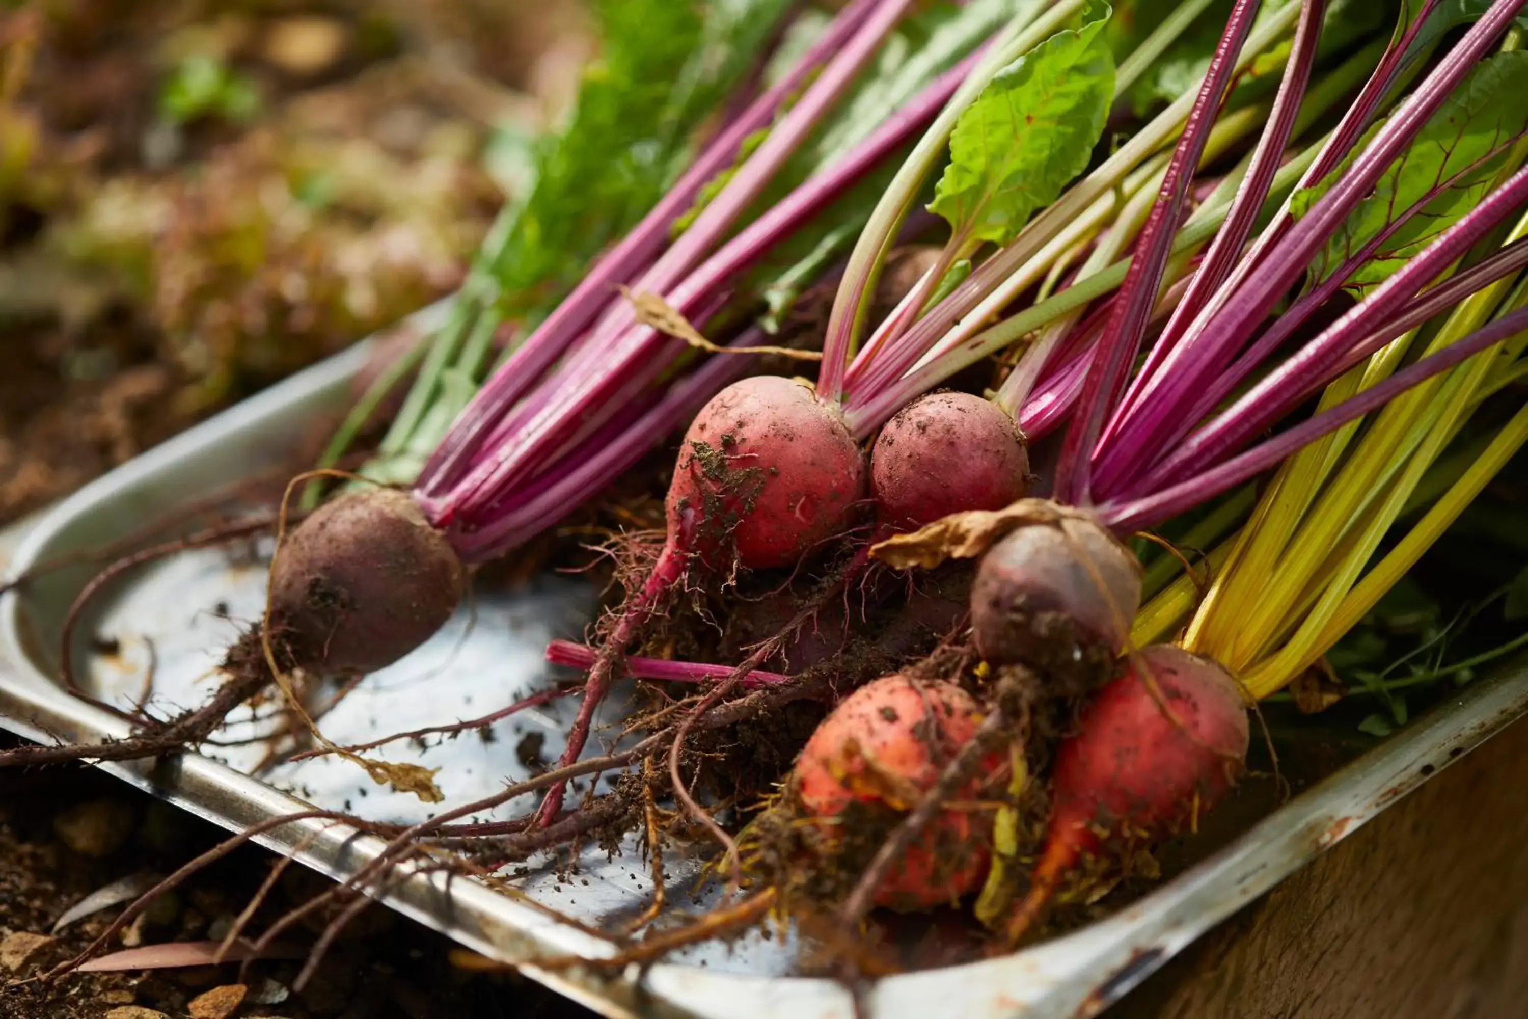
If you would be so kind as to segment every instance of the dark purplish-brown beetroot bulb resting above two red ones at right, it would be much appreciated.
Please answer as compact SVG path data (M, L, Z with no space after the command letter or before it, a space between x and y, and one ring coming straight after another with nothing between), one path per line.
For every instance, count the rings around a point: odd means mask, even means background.
M1096 686L1125 646L1140 599L1135 556L1070 510L987 550L970 593L972 636L993 665Z

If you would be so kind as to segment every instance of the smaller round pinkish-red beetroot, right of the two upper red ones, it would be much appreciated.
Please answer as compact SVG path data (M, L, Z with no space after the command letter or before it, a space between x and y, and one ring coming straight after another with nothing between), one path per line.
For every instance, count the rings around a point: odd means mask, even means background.
M871 451L882 526L917 530L964 510L1024 498L1030 457L1018 425L992 400L931 393L886 422Z

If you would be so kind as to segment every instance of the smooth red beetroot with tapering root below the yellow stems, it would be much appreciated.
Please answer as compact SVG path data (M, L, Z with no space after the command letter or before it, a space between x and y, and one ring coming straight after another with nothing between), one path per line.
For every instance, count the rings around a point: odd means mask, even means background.
M1219 665L1174 645L1135 655L1056 755L1045 851L1010 943L1085 856L1118 856L1213 807L1245 765L1248 736L1242 692Z

